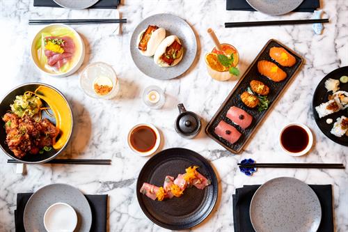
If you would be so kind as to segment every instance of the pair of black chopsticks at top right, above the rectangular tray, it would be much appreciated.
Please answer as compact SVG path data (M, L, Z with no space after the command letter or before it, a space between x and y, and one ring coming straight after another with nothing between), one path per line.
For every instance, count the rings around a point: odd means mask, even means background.
M310 20L274 20L274 21L256 21L256 22L225 22L225 27L243 27L243 26L282 26L292 24L314 24L329 22L329 19L310 19Z

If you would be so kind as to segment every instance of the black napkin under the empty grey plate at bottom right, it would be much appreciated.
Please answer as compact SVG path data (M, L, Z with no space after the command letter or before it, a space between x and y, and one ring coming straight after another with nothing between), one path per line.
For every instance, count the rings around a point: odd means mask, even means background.
M331 185L309 185L317 194L322 206L322 222L317 232L333 232L333 206ZM251 199L260 185L244 185L236 189L233 199L233 221L235 232L254 231L251 225L249 208Z

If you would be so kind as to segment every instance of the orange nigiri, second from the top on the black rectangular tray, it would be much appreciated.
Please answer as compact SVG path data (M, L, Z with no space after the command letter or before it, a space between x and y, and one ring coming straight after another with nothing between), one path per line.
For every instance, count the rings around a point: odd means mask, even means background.
M258 61L258 70L274 82L281 82L287 77L286 72L270 61Z

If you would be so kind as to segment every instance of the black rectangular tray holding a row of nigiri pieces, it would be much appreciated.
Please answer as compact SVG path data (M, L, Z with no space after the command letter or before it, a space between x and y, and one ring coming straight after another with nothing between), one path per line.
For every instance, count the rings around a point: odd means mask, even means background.
M271 47L283 47L287 50L287 52L289 52L290 54L292 54L292 56L295 57L296 63L292 67L283 67L279 65L278 63L276 63L276 61L273 61L269 56L269 49L271 49ZM287 73L286 79L282 82L274 82L271 79L261 75L258 72L258 61L260 60L272 61L276 63L276 65L278 65L282 70L284 70L284 72ZM277 40L269 40L267 44L264 45L258 56L256 56L253 63L251 63L251 65L248 67L241 79L239 79L239 82L236 84L235 88L233 88L233 90L228 95L226 100L223 102L221 107L218 109L218 111L216 111L216 114L213 116L212 120L209 121L207 127L205 127L205 133L230 152L236 154L240 153L244 148L245 144L248 142L248 139L251 138L252 134L261 124L262 119L269 113L269 111L271 111L271 108L273 107L273 105L275 105L276 100L278 100L281 93L286 88L287 84L290 83L292 78L296 75L296 72L299 71L302 64L303 58L299 54L296 54L296 52L292 51L291 49L278 42ZM255 107L253 109L246 107L246 105L244 105L244 103L240 99L240 95L247 90L249 83L253 79L259 80L260 82L263 82L264 84L269 86L269 107L268 109L261 112L258 111L258 107ZM230 107L232 106L244 109L244 111L248 112L248 114L253 116L253 122L245 130L242 129L242 127L239 127L239 125L235 125L234 123L232 123L232 121L230 121L230 119L226 117L228 109L230 109ZM228 141L215 134L214 129L221 120L226 121L226 123L229 123L230 125L233 125L237 128L239 132L242 133L242 136L239 138L238 141L235 142L235 144L230 144Z

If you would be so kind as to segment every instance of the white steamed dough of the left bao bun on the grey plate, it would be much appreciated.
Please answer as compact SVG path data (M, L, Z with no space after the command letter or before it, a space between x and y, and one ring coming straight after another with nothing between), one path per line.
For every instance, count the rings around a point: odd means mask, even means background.
M136 40L136 45L139 45L141 37L143 36L143 33L145 33L145 31L146 29L139 33L138 39ZM143 56L153 56L157 47L162 42L162 40L164 40L164 38L166 38L166 30L160 27L159 29L152 32L150 40L148 41L148 45L146 47L146 51L143 52L139 49L139 52Z

